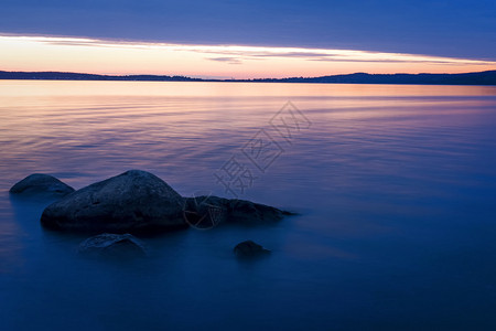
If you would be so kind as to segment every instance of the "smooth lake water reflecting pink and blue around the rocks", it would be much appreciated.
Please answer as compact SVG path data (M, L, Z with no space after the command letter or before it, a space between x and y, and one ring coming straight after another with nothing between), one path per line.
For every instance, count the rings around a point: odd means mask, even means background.
M265 171L244 153L260 137ZM496 329L496 87L3 81L0 146L0 330ZM229 197L234 160L239 197L301 215L100 260L8 193L142 169ZM237 260L245 239L271 256Z

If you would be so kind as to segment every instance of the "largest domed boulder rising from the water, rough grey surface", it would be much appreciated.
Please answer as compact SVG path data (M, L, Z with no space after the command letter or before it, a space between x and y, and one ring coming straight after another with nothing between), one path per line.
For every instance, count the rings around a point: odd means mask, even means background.
M183 206L183 197L164 181L130 170L48 205L41 222L76 232L155 232L185 227Z

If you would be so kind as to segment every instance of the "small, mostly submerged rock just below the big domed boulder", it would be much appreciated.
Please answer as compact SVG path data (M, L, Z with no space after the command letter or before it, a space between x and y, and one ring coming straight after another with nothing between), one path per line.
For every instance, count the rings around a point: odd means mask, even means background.
M104 257L142 257L144 244L131 234L104 233L87 238L79 245L80 254Z

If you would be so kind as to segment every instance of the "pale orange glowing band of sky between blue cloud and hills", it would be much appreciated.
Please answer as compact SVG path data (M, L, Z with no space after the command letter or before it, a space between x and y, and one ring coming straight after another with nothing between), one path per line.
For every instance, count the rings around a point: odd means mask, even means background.
M2 71L157 74L212 78L324 76L367 72L461 73L496 62L353 50L138 43L0 35Z

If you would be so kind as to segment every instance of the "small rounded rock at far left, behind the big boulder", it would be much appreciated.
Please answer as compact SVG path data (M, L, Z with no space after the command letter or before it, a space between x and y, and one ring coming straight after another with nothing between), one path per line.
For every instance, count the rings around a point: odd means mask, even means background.
M75 190L50 174L33 173L13 185L9 192L12 194L33 195L50 194L64 196Z

